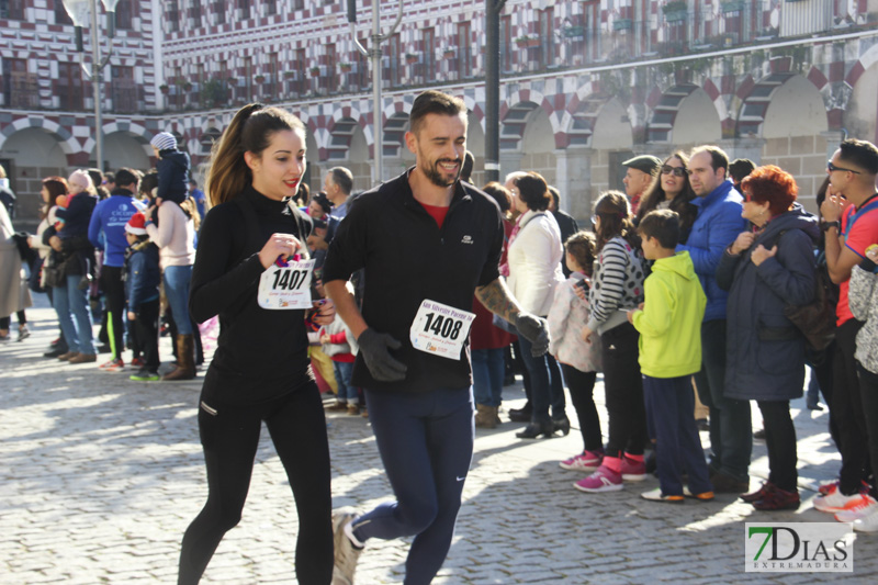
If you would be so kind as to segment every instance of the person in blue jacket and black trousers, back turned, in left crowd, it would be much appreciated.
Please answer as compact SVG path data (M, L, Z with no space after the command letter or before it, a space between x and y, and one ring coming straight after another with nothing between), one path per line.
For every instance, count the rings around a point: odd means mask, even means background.
M103 290L109 313L110 349L112 357L101 365L101 370L117 371L124 367L122 350L124 348L125 328L122 316L125 314L125 284L122 281L125 263L125 224L131 216L143 210L143 204L134 199L137 192L139 172L132 169L120 169L116 172L116 188L109 198L98 203L89 223L89 241L99 250L104 250L103 268L101 268L101 289Z

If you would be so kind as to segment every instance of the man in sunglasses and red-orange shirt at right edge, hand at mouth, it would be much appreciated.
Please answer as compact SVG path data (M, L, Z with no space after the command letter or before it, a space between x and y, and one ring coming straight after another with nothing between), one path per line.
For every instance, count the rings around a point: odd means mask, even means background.
M860 392L854 352L863 323L854 318L848 304L851 271L866 258L866 249L878 244L878 148L847 139L832 155L826 173L832 194L820 213L826 232L826 267L832 281L840 284L830 416L838 428L842 471L837 484L814 499L814 507L851 522L878 510L876 485L863 494L860 483L870 453L873 473L878 470L878 396Z

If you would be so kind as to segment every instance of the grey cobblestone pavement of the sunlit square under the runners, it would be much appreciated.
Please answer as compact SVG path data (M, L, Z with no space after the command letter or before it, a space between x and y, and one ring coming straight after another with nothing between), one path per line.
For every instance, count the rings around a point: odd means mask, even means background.
M29 311L33 337L0 346L0 583L173 583L180 538L206 497L195 424L201 379L136 383L130 372L45 359L57 328L45 301L40 306ZM520 387L505 393L506 407L521 404ZM595 394L603 403L601 385ZM830 581L744 572L745 521L831 521L810 502L817 483L838 468L828 415L800 400L793 416L806 502L776 514L732 496L682 506L645 502L639 494L657 485L653 479L583 494L572 486L578 475L558 465L582 448L575 431L522 441L515 438L521 425L480 430L457 536L435 583ZM707 443L707 434L701 438ZM390 496L365 419L330 416L329 441L337 507L363 509ZM765 448L756 443L754 488L766 471ZM293 498L263 432L244 519L203 583L295 583L295 532ZM401 583L407 545L370 541L357 582ZM838 576L875 583L876 548L878 536L858 536L855 573Z

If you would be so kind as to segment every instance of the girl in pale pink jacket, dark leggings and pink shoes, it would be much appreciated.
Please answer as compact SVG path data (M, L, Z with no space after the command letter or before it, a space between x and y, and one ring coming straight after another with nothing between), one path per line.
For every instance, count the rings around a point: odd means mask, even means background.
M576 289L588 291L592 266L597 245L595 235L578 232L564 244L567 270L571 275L555 286L554 301L549 311L549 334L552 342L549 352L555 357L564 373L571 402L579 419L584 450L560 465L565 470L595 471L604 459L604 439L600 419L592 392L600 370L600 338L592 336L586 341L579 335L579 325L588 323L588 300L582 300Z

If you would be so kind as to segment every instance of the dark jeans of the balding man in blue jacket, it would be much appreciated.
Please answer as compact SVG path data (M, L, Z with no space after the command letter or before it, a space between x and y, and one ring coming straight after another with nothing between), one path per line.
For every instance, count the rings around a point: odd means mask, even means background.
M750 401L723 396L725 389L725 319L701 324L701 371L695 374L698 397L710 408L710 466L735 480L748 477L753 451Z

